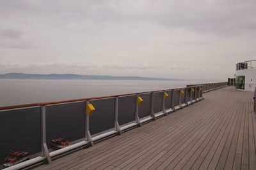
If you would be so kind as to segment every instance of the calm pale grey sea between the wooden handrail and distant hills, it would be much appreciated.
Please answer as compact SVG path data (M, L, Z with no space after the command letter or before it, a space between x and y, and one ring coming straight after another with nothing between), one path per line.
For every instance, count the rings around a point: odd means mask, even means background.
M0 107L186 87L209 81L0 80Z

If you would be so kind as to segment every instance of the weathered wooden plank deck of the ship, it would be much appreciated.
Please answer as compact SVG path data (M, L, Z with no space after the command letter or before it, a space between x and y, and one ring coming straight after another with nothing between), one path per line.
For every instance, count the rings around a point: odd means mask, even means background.
M36 169L256 169L253 93L204 98Z

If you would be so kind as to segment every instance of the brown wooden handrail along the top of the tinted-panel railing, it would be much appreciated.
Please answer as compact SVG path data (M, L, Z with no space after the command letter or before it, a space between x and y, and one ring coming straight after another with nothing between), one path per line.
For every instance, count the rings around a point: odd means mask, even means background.
M195 85L192 87L200 87L200 86L202 86L202 85ZM148 91L148 92L136 92L136 93L130 93L130 94L118 94L118 95L113 95L113 96L88 97L88 98L83 98L83 99L70 99L70 100L52 101L52 102L44 102L44 103L31 103L31 104L20 104L20 105L14 105L14 106L3 106L3 107L0 107L0 110L10 110L10 109L16 109L16 108L29 108L29 107L34 107L34 106L46 106L46 105L50 105L50 104L73 103L73 102L79 102L79 101L90 101L90 100L95 100L95 99L106 99L106 98L113 98L113 97L132 96L132 95L147 94L147 93L152 93L152 92L163 92L166 90L179 90L179 89L186 89L186 88L191 88L191 87L154 90L154 91Z

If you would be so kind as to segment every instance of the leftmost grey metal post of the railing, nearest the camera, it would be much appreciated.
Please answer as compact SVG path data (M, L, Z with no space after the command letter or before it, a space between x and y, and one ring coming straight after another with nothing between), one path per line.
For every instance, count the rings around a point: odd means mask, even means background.
M45 106L41 106L41 148L42 153L44 154L45 159L50 164L52 162L49 150L46 144L46 110Z

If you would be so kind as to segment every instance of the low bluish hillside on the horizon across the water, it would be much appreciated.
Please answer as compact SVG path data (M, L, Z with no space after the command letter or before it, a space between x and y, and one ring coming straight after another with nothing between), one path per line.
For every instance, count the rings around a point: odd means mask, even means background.
M140 76L97 76L79 74L24 74L7 73L0 74L0 79L42 79L42 80L161 80L173 81L173 78L148 78Z

